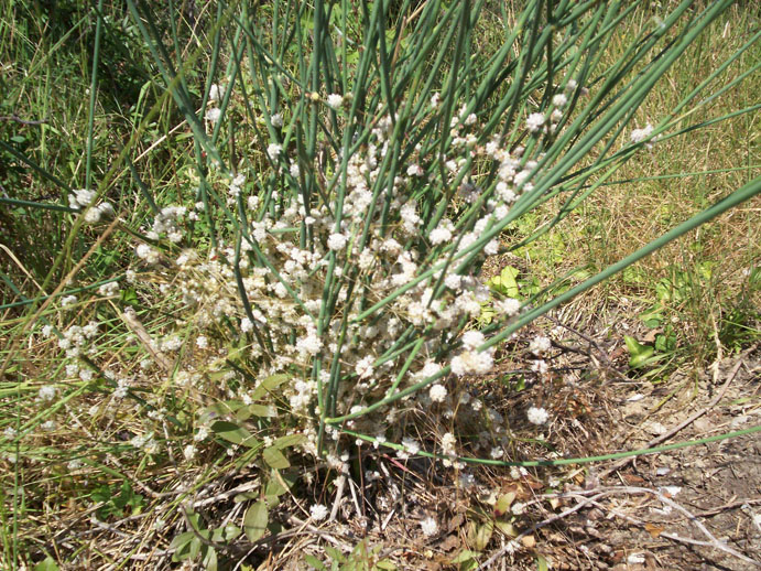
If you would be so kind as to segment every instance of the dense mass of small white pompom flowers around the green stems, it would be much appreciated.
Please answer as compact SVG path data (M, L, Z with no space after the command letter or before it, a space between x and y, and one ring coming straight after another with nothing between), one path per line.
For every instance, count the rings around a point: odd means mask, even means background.
M211 93L210 100L216 101L218 95ZM557 95L553 99L557 108L566 103L567 98ZM345 98L334 94L326 104L341 109ZM436 106L434 98L432 108ZM546 118L535 115L530 117L531 125L539 129ZM319 169L319 179L328 181L325 188L329 190L307 196L273 187L267 196L246 196L244 175L231 176L225 183L229 198L240 198L239 204L248 208L240 248L220 240L207 256L191 248L177 255L177 248L168 245L165 251L175 251L175 263L171 271L165 270L166 263L157 268L156 273L165 276L161 292L176 291L191 310L194 351L210 354L214 342L229 336L232 326L243 342L235 344L239 347L236 358L256 365L252 369L260 380L283 373L291 376L278 388L284 397L280 402L286 403L293 418L305 419L300 430L307 437L306 451L316 450L317 433L308 419L322 413L318 395L325 396L330 385L337 392L323 402L329 417L356 413L412 386L425 387L405 397L404 406L383 407L349 421L352 429L379 434L378 442L400 417L426 407L436 407L446 419L455 410L483 416L493 432L503 433L504 419L480 400L458 394L444 371L449 366L456 376L483 375L493 367L489 340L478 331L461 333L465 324L480 316L482 304L493 301L474 272L487 256L499 251L492 229L508 216L520 194L533 188L531 177L537 174L537 163L523 155L523 148L508 150L499 137L480 146L478 117L464 106L447 127L453 137L448 154L441 155L438 146L425 150L418 144L407 163L390 176L384 169L394 148L394 120L379 114L373 126L366 144L350 157L339 151L328 158L335 162L327 169L320 162L309 165L297 159L295 149L271 142L267 148L270 160L290 165L287 173L279 169L283 179L301 185L302 169ZM494 161L493 187L477 184L480 166L464 159L464 149L479 161ZM339 164L346 169L338 169ZM447 217L449 212L427 212L411 200L432 185L452 187L468 204L478 205L467 224ZM334 188L340 188L340 201ZM188 222L187 208L163 208L148 233L156 245L140 244L137 256L155 265L162 259L161 243L182 241ZM164 260L168 259L167 254ZM461 269L464 259L475 269ZM101 293L117 291L113 287ZM382 309L365 315L376 304ZM494 304L505 319L520 311L514 299ZM404 344L421 336L423 343L411 356L412 345ZM181 336L166 332L154 348L168 353L182 346ZM537 344L532 351L539 355L546 351L543 347ZM199 370L178 370L174 381L208 388L203 386L207 381ZM128 387L119 384L117 391L126 395ZM231 392L244 405L252 403L251 394L237 388ZM272 410L273 416L278 413ZM339 432L328 425L326 434L337 439ZM493 448L486 437L482 445ZM452 435L442 441L446 455L455 454L454 446ZM420 450L418 442L405 441L400 455Z

